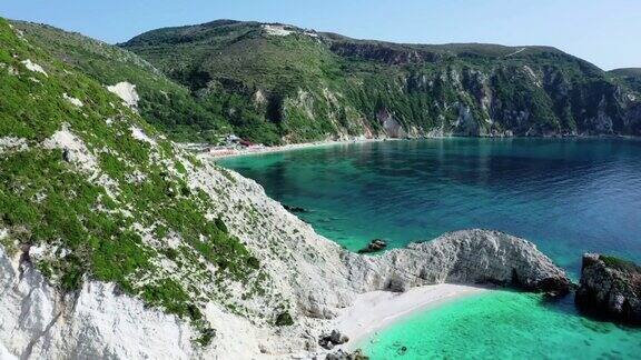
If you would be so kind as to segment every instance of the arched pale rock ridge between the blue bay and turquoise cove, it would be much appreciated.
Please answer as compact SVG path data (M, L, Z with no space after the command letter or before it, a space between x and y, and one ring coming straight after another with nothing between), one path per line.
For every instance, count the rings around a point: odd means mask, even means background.
M349 277L365 291L443 282L500 284L564 293L571 281L536 247L497 231L464 230L381 257L349 257Z

